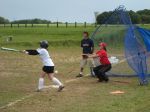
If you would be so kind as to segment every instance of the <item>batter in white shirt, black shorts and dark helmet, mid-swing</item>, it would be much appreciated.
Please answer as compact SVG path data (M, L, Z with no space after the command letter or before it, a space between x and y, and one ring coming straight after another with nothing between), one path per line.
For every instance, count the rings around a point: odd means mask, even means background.
M43 71L41 73L41 76L39 78L39 84L38 84L38 90L41 91L44 88L44 77L47 74L48 78L54 82L54 84L59 86L58 91L63 90L64 86L63 84L54 77L54 63L47 51L48 48L48 42L47 41L41 41L40 47L37 50L24 50L23 52L28 55L39 55L42 62L43 62Z

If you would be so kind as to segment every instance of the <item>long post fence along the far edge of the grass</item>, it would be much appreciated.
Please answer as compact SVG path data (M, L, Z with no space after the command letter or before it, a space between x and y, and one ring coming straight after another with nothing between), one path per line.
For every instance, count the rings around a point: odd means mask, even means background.
M13 28L13 27L74 27L74 28L77 28L77 27L97 27L97 24L96 23L87 23L87 22L84 22L84 23L59 23L59 22L56 22L56 23L48 23L48 24L0 24L0 27L10 27L10 28Z

